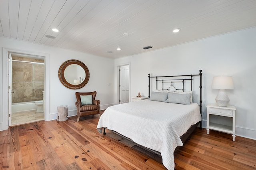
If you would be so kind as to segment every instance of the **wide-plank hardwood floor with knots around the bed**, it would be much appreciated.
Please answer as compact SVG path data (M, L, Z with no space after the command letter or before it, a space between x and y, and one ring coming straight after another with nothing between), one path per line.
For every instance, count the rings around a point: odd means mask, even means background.
M161 158L106 130L98 117L39 121L0 131L0 169L133 170L165 169ZM196 129L175 154L176 170L256 169L256 140Z

